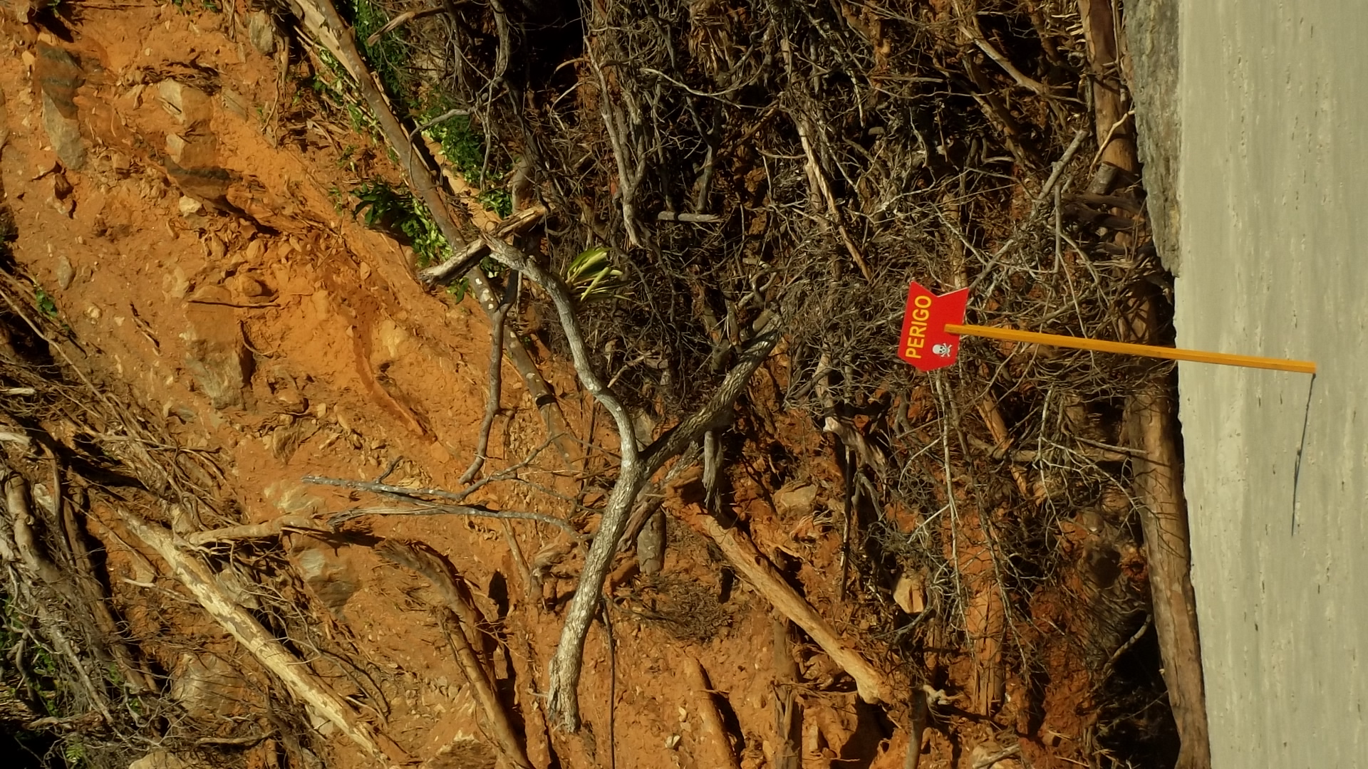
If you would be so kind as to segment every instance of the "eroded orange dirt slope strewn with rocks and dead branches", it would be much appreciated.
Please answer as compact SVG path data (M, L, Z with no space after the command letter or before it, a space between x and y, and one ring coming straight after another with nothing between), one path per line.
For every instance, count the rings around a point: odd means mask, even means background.
M33 278L38 307L66 326L103 384L198 457L208 495L202 506L163 510L172 528L192 534L282 514L324 528L328 514L376 504L301 483L308 475L458 487L484 409L488 324L472 304L423 290L409 268L412 252L353 220L337 190L358 181L352 159L369 140L335 125L291 122L297 88L285 79L286 41L274 27L245 12L86 4L66 37L10 16L0 31L8 130L0 172L14 257ZM572 426L601 436L568 374L543 363ZM759 390L777 395L788 387L785 367L776 356L758 375ZM505 380L491 447L501 465L534 452L544 435L516 372ZM829 438L774 408L777 398L755 400L769 412L765 424L750 427L782 435L787 460L802 469L784 473L784 488L770 488L769 460L747 456L743 465L751 467L733 479L732 504L762 550L788 553L789 576L824 616L855 638L886 635L880 617L852 609L830 577L839 561L844 572L844 560L829 512L840 504L843 471ZM569 499L546 509L540 495L538 509L583 517L601 504L586 467L592 469L581 465L572 479L565 467L540 462L527 480ZM688 480L666 490L669 509L698 502ZM531 498L531 486L512 483L491 484L472 501L517 509ZM108 551L114 603L153 673L179 687L187 724L223 738L268 729L259 714L280 696L275 684L222 629L176 608L183 597L174 580L150 553L129 545L137 538L111 509L97 505L90 514L88 528ZM295 606L302 620L290 621L312 625L319 643L331 644L304 654L312 669L416 761L456 768L497 759L434 609L439 601L425 580L376 554L382 538L421 542L466 580L487 620L484 653L503 699L529 725L524 736L539 768L721 765L724 747L700 718L700 690L684 675L688 658L702 662L725 698L741 766L782 765L777 713L789 699L803 713L795 735L803 766L903 765L911 716L859 702L840 669L776 623L769 605L687 527L670 524L661 575L614 575L613 638L598 625L586 650L586 727L549 738L536 728L536 691L577 575L581 553L572 538L513 524L534 568L528 583L497 521L358 520L339 534L287 531L283 561L257 561L265 571L287 569L238 577L241 598L252 605L257 586L276 586L257 609ZM1083 528L1066 535L1079 549L1090 536ZM973 556L963 558L956 565L973 566ZM291 575L302 592L291 592ZM1060 610L1060 624L1067 614ZM305 639L294 640L308 651ZM962 709L967 699L949 687L925 765L971 766L1023 735L1036 766L1082 754L1073 742L1074 709L1088 696L1086 679L1067 646L1040 646L1055 675L1048 692L1033 692L1045 684L1012 673L1003 710L989 718ZM876 655L881 649L867 646ZM912 686L891 660L874 662L902 688ZM978 676L969 657L953 653L929 665L964 688ZM327 724L315 727L328 735ZM289 738L253 743L241 759L276 765L275 740ZM324 744L330 766L368 765L341 738ZM1007 757L993 765L1019 764Z

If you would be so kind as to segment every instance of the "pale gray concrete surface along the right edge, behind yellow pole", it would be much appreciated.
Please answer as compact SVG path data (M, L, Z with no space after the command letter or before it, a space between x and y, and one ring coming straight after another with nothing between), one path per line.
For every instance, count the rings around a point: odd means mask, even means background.
M1218 769L1368 768L1368 3L1179 0L1181 417ZM1293 516L1295 512L1295 528Z

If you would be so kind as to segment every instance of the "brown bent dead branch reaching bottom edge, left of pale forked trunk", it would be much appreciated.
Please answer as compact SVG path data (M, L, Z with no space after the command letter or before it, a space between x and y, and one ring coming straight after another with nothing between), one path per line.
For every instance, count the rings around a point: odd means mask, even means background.
M395 564L408 566L423 575L442 595L442 599L446 601L446 606L457 618L457 627L450 634L451 644L456 646L456 658L461 664L465 680L475 688L475 698L484 710L484 717L490 724L494 740L499 744L499 750L503 751L505 758L513 762L514 766L531 769L532 764L527 759L527 750L517 738L513 720L509 717L508 710L503 709L503 703L499 702L498 695L494 694L494 684L490 680L488 672L480 664L479 654L476 654L466 639L466 634L480 632L480 623L475 606L465 599L465 595L457 587L456 580L458 577L453 573L451 565L446 558L427 547L404 545L393 539L382 542L376 546L375 551Z

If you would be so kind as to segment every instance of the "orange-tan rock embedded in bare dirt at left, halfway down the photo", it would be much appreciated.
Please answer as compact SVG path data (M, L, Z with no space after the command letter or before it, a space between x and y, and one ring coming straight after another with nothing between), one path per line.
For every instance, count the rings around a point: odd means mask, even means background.
M252 375L252 359L237 317L226 307L192 304L185 365L216 409L242 408L242 389Z

